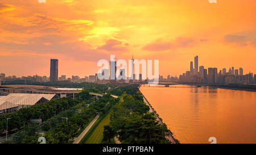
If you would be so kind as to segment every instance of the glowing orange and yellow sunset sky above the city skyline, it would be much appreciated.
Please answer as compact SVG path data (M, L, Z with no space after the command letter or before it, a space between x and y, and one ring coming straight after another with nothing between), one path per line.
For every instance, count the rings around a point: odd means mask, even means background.
M95 74L110 55L159 59L159 73L199 66L256 73L255 0L0 0L0 73Z

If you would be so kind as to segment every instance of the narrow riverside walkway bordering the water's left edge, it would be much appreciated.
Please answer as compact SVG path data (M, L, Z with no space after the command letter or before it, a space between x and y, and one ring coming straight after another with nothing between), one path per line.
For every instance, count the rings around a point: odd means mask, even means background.
M141 85L140 85L139 87L141 87ZM139 87L138 87L138 88L139 88ZM163 123L163 120L162 120L161 118L159 118L159 115L156 113L156 111L154 110L154 108L153 108L153 107L151 106L151 104L148 102L147 98L144 97L143 94L142 94L142 96L143 96L143 101L144 101L144 103L146 103L147 106L150 108L149 112L154 112L154 114L155 114L155 116L156 116L156 120L158 120L158 122L159 122L160 124L164 124L164 123ZM168 133L168 136L166 136L166 139L169 140L172 144L179 144L179 141L176 140L176 139L174 138L174 136L172 136L172 132L171 132L171 131Z

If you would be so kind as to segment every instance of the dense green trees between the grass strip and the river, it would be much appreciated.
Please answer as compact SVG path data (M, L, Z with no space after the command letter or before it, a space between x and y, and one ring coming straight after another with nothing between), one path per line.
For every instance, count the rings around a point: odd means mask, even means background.
M122 143L127 144L169 143L165 138L168 134L166 124L160 124L154 113L148 112L149 107L143 102L138 87L118 89L126 91L113 107L110 124L104 127L104 141L108 142L118 136Z

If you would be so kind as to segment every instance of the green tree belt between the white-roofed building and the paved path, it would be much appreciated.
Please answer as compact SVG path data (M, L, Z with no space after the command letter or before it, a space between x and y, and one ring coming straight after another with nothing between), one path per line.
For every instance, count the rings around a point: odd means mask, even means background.
M44 121L41 126L36 124L24 126L14 134L13 141L8 143L38 143L37 140L41 136L38 132L42 131L45 132L47 144L68 143L77 135L79 129L84 129L97 112L105 114L117 102L109 94L98 100L92 99L88 91L82 91L75 100L80 100L81 103L61 111L58 115Z

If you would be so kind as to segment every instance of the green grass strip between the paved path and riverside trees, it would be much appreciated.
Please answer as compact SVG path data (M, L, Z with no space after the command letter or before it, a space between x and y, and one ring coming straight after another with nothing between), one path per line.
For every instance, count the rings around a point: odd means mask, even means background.
M110 122L110 112L104 119L97 125L92 134L85 141L85 144L100 144L103 140L104 125L108 125Z

